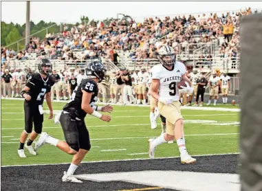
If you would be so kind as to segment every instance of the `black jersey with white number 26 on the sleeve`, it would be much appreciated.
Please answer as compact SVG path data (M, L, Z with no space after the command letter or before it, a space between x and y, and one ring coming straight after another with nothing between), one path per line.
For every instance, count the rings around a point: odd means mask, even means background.
M81 108L83 96L82 91L93 93L89 104L90 106L94 106L94 103L98 100L98 85L94 80L83 79L80 82L80 85L74 90L74 93L72 94L72 101L68 102L63 108L63 111L69 112L72 117L77 117L80 120L83 120L87 115L87 113L85 113L85 111Z

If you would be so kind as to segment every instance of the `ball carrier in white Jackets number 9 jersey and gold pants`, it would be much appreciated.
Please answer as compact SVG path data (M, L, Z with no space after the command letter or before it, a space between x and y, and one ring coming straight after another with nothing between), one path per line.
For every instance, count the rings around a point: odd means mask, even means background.
M184 139L184 120L180 111L179 92L177 82L186 80L186 87L182 87L186 93L192 93L193 87L186 76L186 67L183 63L176 62L175 50L170 46L162 46L158 51L160 65L152 68L151 95L158 101L160 114L166 118L166 133L155 139L149 139L149 157L155 155L155 148L163 143L176 139L179 147L182 164L195 163L186 150Z

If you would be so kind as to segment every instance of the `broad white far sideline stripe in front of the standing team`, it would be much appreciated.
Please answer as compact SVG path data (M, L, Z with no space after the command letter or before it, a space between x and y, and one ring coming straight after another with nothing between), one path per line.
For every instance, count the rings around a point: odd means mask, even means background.
M24 100L24 98L8 98L8 100ZM56 100L52 101L52 102L58 102ZM61 102L65 102L67 103L68 100L60 100ZM103 103L100 102L98 103L100 104L111 104L111 105L116 105L116 106L139 106L139 107L149 107L150 105L143 105L143 104L125 104L125 105L121 105L121 104L113 104L113 103ZM222 105L222 104L221 104ZM219 105L217 105L219 106ZM232 111L232 112L239 112L240 109L230 109L230 108L221 108L221 107L209 107L209 106L182 106L181 109L189 109L189 110L202 110L202 111Z

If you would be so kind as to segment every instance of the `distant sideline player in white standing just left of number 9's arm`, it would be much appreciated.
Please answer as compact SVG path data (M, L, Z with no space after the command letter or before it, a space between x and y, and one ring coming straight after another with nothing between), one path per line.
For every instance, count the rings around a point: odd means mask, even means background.
M138 73L138 104L141 103L143 99L143 104L146 104L146 83L149 80L149 74L146 69L141 69Z

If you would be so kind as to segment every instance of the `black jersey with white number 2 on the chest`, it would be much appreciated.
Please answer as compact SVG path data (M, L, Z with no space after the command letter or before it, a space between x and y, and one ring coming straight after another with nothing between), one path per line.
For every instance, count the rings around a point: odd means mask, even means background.
M45 93L50 92L52 85L54 85L52 76L43 79L39 73L32 74L25 85L30 88L28 94L31 96L31 100L25 100L25 102L37 105L43 104Z

